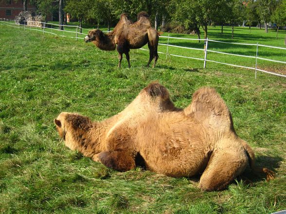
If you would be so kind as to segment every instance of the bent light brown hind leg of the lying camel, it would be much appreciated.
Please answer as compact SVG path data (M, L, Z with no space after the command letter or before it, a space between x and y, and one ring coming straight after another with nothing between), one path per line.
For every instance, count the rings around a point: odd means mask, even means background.
M248 157L245 153L216 150L200 177L199 188L205 191L222 190L240 175L247 165Z

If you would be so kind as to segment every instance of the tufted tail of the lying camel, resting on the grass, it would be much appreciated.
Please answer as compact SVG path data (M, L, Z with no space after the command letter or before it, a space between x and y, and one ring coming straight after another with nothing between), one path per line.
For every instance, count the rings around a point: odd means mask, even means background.
M269 170L266 167L255 167L255 155L254 155L252 148L244 140L242 140L241 142L242 142L244 149L246 150L248 160L249 160L249 165L252 171L254 173L266 174L266 181L273 180L275 178L274 172Z

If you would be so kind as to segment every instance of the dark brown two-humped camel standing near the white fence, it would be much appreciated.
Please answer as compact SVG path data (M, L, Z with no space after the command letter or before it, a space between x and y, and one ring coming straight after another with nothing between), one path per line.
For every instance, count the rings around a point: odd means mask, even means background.
M140 12L135 23L132 23L127 14L124 13L121 14L120 20L112 32L105 34L101 30L89 31L85 42L92 41L95 46L102 50L115 50L116 48L119 53L118 67L121 66L123 54L125 54L128 67L130 67L130 49L140 49L148 43L149 62L147 66L154 58L153 67L155 67L159 58L157 51L159 34L152 28L146 12Z

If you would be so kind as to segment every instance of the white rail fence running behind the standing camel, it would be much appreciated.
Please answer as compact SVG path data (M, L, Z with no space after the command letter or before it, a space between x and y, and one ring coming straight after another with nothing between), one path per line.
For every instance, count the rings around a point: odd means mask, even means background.
M29 21L29 22L36 22L36 21ZM1 25L11 26L11 27L14 27L14 28L24 28L24 30L28 29L28 30L40 31L40 32L43 32L43 33L51 33L51 34L62 36L62 37L75 38L76 40L77 39L84 39L82 37L79 37L78 35L86 35L86 33L80 33L79 30L89 30L89 29L81 28L81 27L79 27L77 25L58 25L58 24L46 23L46 22L36 22L37 24L41 25L41 27L36 27L36 26L28 26L26 23L27 22L24 22L24 24L17 24L17 23L15 23L15 20L7 20L7 19L0 18L0 24ZM20 27L20 26L23 26L23 27ZM47 26L51 26L51 27L47 27ZM56 28L54 28L53 26L56 26ZM58 27L60 27L60 26L62 26L63 28L75 28L75 31L60 30L60 29L58 29ZM42 30L40 30L40 29L42 29ZM51 29L51 32L47 31L47 29ZM57 34L57 33L53 33L53 31L63 32L63 35ZM65 35L64 34L65 32L67 32L67 33L75 33L75 36ZM208 39L208 38L207 39L179 38L179 37L171 37L170 34L168 34L168 36L160 36L160 37L168 39L167 44L159 43L159 45L161 45L161 46L167 46L166 52L158 52L158 53L161 53L161 54L166 54L166 59L167 59L168 56L169 57L170 56L175 56L175 57L182 57L182 58L187 58L187 59L201 60L201 61L204 61L204 66L203 66L204 68L206 68L206 62L212 62L212 63L223 64L223 65L228 65L228 66L234 66L234 67L241 67L241 68L251 69L251 70L255 70L255 79L256 79L256 76L257 76L257 71L268 73L268 74L272 74L272 75L275 75L275 76L286 77L286 75L283 75L283 74L278 74L278 73L274 73L274 72L271 72L271 71L266 71L266 70L257 68L257 59L264 60L264 61L270 61L270 62L273 62L273 63L286 64L286 62L284 62L284 61L271 60L271 59L258 57L258 47L266 47L266 48L274 48L274 49L282 49L282 50L286 50L286 48L274 47L274 46L268 46L268 45L260 45L258 43L257 44L247 44L247 43L223 42L223 41L211 40L211 39ZM197 49L197 48L190 48L190 47L170 45L169 44L169 39L204 41L205 42L205 48L204 49ZM225 43L225 44L232 44L232 45L256 46L256 55L255 56L248 56L248 55L240 55L240 54L226 53L226 52L221 52L221 51L210 50L210 49L208 49L208 43L209 42ZM204 51L204 53L205 53L204 54L204 58L195 58L195 57L188 57L188 56L181 56L181 55L171 54L170 50L169 50L169 47L175 47L175 48L179 48L179 49L192 49L192 50ZM147 50L147 49L143 49L143 48L141 48L141 49L142 50ZM218 61L214 61L214 60L208 60L207 59L207 53L208 52L213 52L213 53L217 53L217 54L226 54L226 55L232 55L232 56L238 56L238 57L253 58L253 59L255 59L255 66L253 66L253 67L240 66L240 65L228 64L228 63L222 63L222 62L218 62Z

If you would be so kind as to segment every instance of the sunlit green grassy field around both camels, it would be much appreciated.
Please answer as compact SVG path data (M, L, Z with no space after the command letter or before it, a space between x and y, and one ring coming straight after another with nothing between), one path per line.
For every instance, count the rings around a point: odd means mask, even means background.
M228 31L222 36L211 28L210 38L231 41ZM249 34L249 29L235 38L281 47L283 40L263 30ZM272 51L265 53L286 61L283 52ZM268 214L286 209L285 78L259 73L255 80L252 70L213 63L202 69L201 61L165 60L165 55L156 68L146 68L143 50L132 50L130 60L131 68L125 59L117 68L115 51L0 25L1 213ZM224 191L201 192L199 177L170 178L141 168L113 171L59 140L53 120L60 112L103 120L122 111L154 80L169 89L178 107L186 107L199 87L215 87L238 135L254 148L257 165L275 171L275 180L247 170Z

